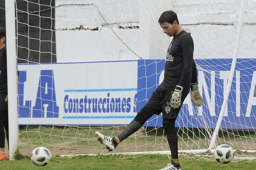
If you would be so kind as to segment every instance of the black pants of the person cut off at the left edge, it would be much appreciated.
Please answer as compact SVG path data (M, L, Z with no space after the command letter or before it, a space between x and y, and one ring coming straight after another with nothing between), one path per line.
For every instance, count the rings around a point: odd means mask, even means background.
M9 144L8 111L0 110L0 147L5 147L5 132Z

